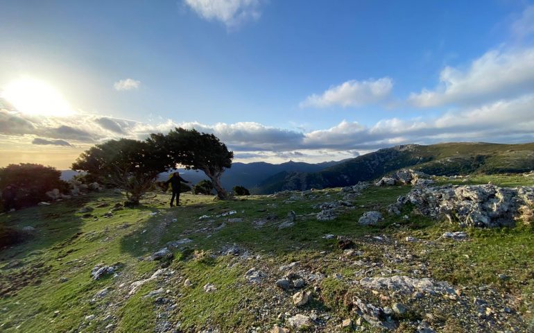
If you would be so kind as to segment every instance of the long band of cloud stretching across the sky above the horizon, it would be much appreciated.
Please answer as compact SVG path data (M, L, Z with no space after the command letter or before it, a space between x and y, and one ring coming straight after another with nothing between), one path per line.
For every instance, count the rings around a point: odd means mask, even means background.
M71 143L87 146L119 137L144 139L149 133L167 133L175 127L183 127L213 133L243 159L259 157L259 152L263 152L264 156L306 160L311 152L319 154L322 151L325 156L357 155L385 146L408 143L534 141L533 110L534 93L451 110L438 117L392 117L381 119L372 126L343 120L330 128L307 132L255 122L205 124L168 120L142 123L90 114L70 118L28 117L1 110L0 135L14 139L30 135L35 137L34 144L67 147Z

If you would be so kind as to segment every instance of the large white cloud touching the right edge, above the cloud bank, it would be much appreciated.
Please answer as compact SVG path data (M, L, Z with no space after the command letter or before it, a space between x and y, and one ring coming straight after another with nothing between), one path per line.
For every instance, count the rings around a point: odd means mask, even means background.
M534 48L493 50L472 62L469 68L445 67L440 85L423 89L408 99L419 107L472 105L532 92L534 87Z

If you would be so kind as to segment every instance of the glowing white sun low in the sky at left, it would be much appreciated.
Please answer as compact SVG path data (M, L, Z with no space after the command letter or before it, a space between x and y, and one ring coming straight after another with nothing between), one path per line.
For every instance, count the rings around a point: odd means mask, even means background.
M35 78L13 81L3 89L1 96L25 114L62 117L74 113L58 90Z

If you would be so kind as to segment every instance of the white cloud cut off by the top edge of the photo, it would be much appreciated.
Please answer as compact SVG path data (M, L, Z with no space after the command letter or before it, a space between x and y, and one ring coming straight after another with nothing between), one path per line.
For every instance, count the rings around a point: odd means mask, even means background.
M236 28L243 22L259 19L259 0L184 0L200 17L218 20L228 28Z

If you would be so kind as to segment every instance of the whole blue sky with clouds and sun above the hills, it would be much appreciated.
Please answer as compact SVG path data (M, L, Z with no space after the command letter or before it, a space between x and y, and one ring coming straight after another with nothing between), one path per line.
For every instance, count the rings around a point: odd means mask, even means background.
M534 3L0 2L0 167L214 133L234 162L534 142Z

